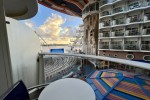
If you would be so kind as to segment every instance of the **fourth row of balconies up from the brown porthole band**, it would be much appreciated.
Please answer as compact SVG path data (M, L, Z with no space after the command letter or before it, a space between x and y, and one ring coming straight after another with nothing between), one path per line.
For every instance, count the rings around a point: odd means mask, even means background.
M108 16L108 15L113 15L113 14L116 14L116 13L121 13L121 12L128 12L130 10L134 10L134 9L139 9L140 7L148 7L150 6L150 1L143 1L143 4L141 2L134 2L132 4L129 4L127 7L126 6L120 6L120 7L116 7L116 8L113 8L113 9L109 9L109 10L106 10L106 11L103 11L101 13L101 17L104 17L104 16Z

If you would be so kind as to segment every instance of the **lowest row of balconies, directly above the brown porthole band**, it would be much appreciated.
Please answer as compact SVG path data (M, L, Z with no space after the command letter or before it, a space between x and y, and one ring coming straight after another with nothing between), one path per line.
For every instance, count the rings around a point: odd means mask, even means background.
M99 49L115 49L115 50L145 50L150 51L150 44L99 44Z

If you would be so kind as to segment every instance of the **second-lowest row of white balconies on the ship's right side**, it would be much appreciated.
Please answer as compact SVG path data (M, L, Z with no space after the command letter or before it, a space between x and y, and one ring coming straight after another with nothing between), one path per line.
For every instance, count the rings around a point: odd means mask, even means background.
M138 30L127 30L127 31L116 31L116 32L105 32L99 33L99 38L106 37L123 37L123 36L142 36L150 35L150 29L143 29L142 32Z

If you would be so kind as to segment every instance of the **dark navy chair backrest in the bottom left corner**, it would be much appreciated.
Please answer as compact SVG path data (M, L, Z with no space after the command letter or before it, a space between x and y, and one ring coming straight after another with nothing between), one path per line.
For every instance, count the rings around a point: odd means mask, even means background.
M0 100L29 100L28 90L25 84L20 80L10 87Z

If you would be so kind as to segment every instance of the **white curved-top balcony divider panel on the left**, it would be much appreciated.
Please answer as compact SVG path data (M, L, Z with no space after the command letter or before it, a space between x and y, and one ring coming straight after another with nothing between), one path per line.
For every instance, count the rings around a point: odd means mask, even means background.
M6 18L13 82L22 79L27 86L37 84L37 56L40 41L32 29L23 23Z

